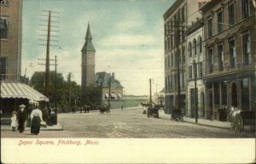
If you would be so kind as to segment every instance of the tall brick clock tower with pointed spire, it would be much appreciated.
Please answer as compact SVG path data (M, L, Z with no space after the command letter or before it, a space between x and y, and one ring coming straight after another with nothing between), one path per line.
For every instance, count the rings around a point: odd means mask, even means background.
M82 88L95 87L95 48L91 42L90 24L88 23L82 52Z

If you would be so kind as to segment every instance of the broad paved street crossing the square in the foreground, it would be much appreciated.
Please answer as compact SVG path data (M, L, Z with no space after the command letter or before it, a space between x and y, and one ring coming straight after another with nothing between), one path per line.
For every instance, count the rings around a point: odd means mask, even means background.
M110 114L66 113L58 115L62 131L41 131L38 136L2 131L5 138L253 138L253 132L233 133L230 129L170 121L160 110L160 118L142 114L143 109L111 110Z

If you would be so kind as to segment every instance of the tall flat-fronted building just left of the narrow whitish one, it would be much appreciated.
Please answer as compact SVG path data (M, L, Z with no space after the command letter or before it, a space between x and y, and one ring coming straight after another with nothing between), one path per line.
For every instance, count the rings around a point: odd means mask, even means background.
M178 104L186 109L187 37L186 26L201 18L197 0L178 0L163 15L165 21L166 113ZM178 87L180 86L180 87ZM179 91L180 90L180 91ZM179 99L177 99L179 97Z

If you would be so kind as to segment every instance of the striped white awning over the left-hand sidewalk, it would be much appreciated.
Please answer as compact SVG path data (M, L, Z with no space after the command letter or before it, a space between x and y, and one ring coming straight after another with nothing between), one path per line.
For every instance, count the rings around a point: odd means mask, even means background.
M42 93L20 82L1 82L1 98L20 98L49 102L49 99Z

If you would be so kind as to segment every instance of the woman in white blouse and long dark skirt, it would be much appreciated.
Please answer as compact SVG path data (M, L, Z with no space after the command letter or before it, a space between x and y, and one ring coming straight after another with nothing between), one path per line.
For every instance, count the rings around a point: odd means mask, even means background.
M38 109L38 102L34 103L34 108L31 112L31 133L38 135L40 132L41 122L44 122L42 118L42 111Z

